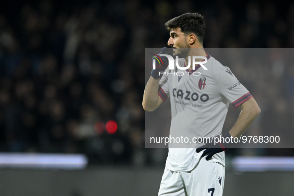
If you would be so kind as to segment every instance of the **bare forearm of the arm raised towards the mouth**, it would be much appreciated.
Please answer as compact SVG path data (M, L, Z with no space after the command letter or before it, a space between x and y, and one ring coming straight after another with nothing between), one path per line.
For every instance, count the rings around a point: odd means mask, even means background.
M150 77L146 84L142 101L146 111L154 111L163 102L158 95L159 80Z

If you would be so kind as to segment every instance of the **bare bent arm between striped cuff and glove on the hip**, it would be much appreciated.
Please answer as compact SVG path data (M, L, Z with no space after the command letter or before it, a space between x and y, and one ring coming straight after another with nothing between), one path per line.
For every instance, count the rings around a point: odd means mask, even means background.
M248 99L240 108L242 109L241 113L236 123L229 131L232 137L240 137L261 111L254 98Z

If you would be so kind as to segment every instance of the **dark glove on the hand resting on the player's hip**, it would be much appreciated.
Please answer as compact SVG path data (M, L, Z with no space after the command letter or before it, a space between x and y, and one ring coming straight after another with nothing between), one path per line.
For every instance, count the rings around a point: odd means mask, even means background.
M204 157L206 154L208 154L205 159L208 161L214 154L225 151L227 148L229 148L233 142L231 141L231 135L229 132L227 132L224 136L223 139L220 140L220 142L215 143L214 141L211 143L204 144L200 148L196 149L196 152L200 152L204 150L203 154L201 157ZM229 142L225 142L226 138L230 138ZM228 141L229 139L227 139Z

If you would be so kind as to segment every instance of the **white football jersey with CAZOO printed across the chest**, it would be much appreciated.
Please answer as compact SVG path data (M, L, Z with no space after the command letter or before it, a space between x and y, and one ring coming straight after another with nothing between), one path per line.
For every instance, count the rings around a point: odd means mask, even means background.
M203 145L196 138L220 136L229 103L236 108L252 98L228 67L206 54L207 70L200 65L191 71L175 66L175 70L166 70L168 74L159 83L159 96L163 101L171 99L170 138L174 140L170 140L166 162L171 171L191 171L196 167L202 155L196 153L196 148ZM184 59L179 59L179 66L186 67ZM225 165L224 152L212 159Z

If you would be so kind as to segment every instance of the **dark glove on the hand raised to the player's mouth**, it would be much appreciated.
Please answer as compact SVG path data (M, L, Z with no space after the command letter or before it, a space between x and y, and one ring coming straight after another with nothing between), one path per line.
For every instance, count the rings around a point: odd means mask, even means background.
M162 48L161 52L159 54L153 54L152 58L152 63L153 59L155 59L155 65L156 68L151 71L151 76L156 79L160 79L163 74L159 72L164 72L166 68L168 67L169 60L167 57L160 57L160 54L168 54L170 56L173 56L173 49L172 48Z

